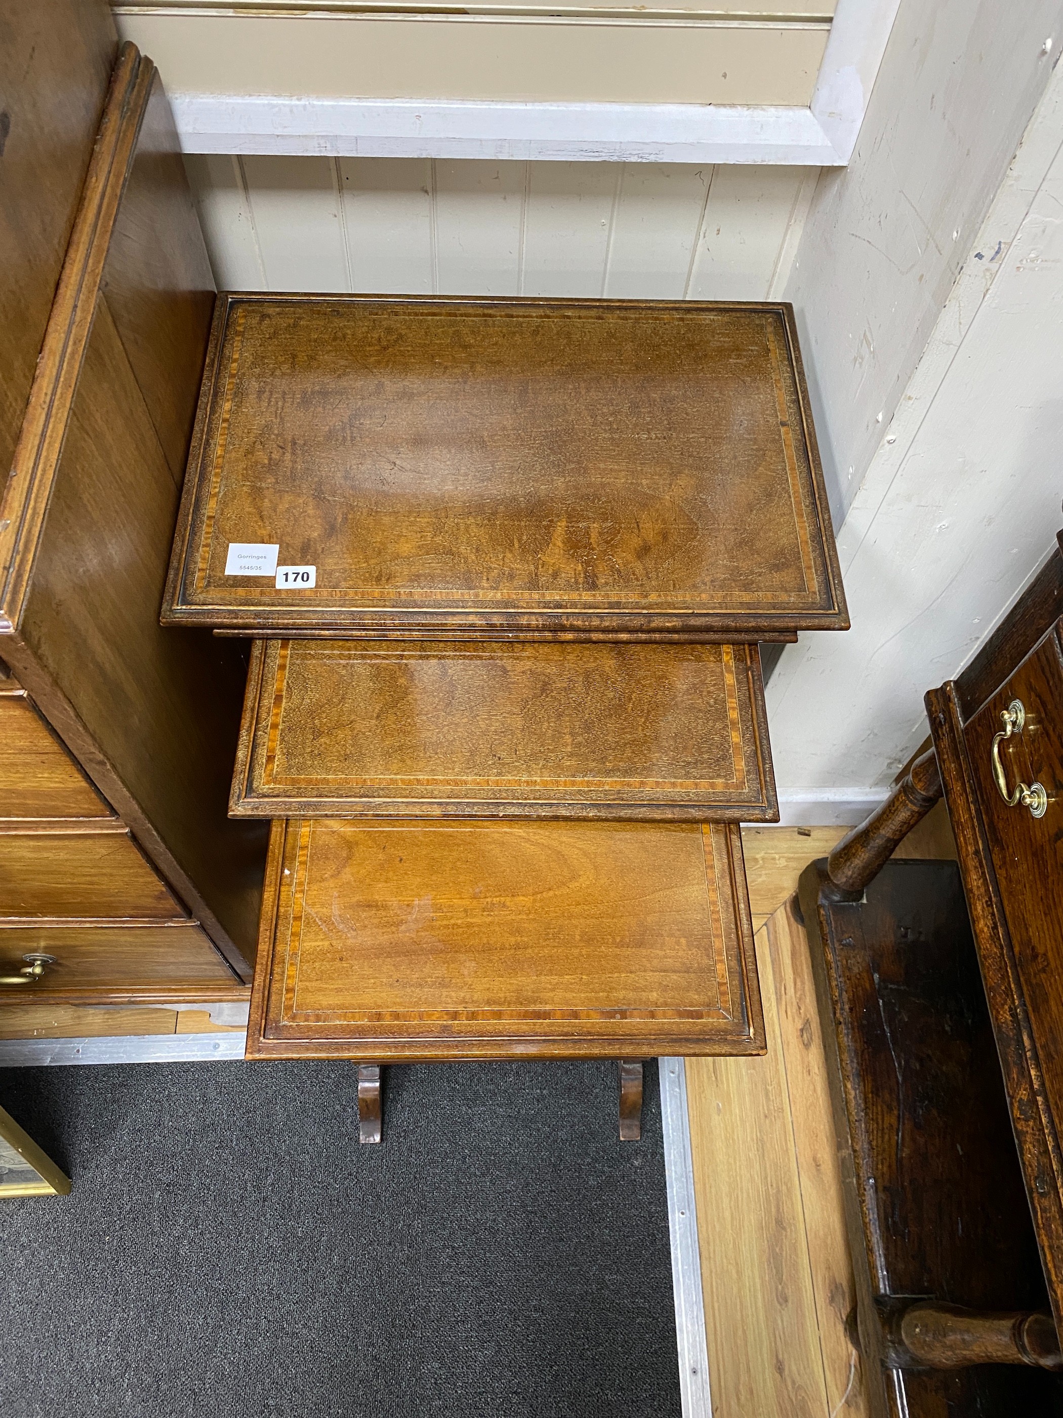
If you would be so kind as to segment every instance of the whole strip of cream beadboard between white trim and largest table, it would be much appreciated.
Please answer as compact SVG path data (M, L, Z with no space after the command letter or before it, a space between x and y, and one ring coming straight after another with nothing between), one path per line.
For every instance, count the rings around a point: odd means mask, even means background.
M774 298L816 169L186 156L223 289Z

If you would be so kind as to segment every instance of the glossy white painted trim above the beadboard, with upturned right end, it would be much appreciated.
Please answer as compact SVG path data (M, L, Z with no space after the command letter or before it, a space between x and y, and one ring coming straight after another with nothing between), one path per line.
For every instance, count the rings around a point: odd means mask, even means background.
M899 4L838 0L808 108L211 92L170 101L187 153L839 167L856 145ZM115 11L120 18L137 7Z

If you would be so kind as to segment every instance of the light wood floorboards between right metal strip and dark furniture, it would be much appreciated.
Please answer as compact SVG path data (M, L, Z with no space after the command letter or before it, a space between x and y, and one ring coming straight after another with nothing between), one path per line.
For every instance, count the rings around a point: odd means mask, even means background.
M788 905L757 956L767 1056L686 1062L713 1414L863 1418L823 1039Z

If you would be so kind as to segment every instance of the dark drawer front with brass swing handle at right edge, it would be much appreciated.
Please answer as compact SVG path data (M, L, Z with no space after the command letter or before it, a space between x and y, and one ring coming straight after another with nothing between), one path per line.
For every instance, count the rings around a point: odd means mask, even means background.
M1023 706L1020 732L1001 715ZM994 740L996 743L994 744ZM1063 1120L1063 657L1053 630L964 727L1018 986L1036 1044L1045 1090ZM1009 807L995 784L994 750L1009 795L1018 784L1045 791L1043 815ZM1036 805L1036 804L1035 804Z

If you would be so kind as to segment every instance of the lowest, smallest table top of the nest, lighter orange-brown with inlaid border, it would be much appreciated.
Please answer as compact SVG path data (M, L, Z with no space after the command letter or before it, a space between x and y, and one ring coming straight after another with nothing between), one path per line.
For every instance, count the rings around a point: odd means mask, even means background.
M763 1052L737 827L274 824L248 1054L665 1045Z

